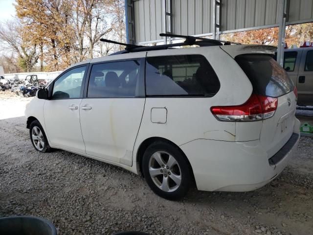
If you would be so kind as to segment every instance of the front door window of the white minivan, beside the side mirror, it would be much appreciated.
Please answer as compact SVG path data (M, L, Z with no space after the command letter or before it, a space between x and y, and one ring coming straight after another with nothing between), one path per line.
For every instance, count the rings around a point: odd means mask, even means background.
M52 97L55 99L81 98L81 88L86 66L64 73L53 86Z

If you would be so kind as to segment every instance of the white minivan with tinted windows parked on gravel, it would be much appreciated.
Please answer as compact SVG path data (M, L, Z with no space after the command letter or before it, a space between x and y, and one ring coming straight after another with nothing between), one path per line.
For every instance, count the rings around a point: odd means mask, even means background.
M142 173L171 200L193 182L207 191L266 185L300 138L296 89L276 47L198 46L132 47L69 67L26 107L33 146Z

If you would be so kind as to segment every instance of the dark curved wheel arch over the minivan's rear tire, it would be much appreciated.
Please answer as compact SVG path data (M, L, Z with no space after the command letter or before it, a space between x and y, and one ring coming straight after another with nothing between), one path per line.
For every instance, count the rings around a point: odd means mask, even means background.
M143 157L143 154L146 151L146 149L148 148L148 146L150 144L152 144L153 142L156 142L156 141L167 142L167 143L169 143L169 144L171 144L171 145L173 145L179 149L180 153L182 154L182 156L184 156L184 158L186 159L186 161L189 165L189 168L190 168L191 174L192 174L192 180L195 182L195 176L194 176L193 168L192 168L186 154L181 150L181 148L176 143L174 143L173 141L170 141L168 139L162 138L162 137L150 137L150 138L142 141L141 144L139 145L138 150L137 150L137 154L136 154L136 162L139 163L139 171L141 172L141 175L143 176L143 174L142 174L142 157Z

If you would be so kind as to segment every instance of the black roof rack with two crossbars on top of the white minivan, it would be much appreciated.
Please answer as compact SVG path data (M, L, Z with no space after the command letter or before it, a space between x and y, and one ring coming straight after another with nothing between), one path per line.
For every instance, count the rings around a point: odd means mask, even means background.
M120 42L115 42L115 41L108 40L108 39L103 39L103 38L100 39L100 41L126 46L125 50L112 53L111 55L123 54L123 53L128 53L128 52L139 52L139 51L148 51L148 50L161 50L161 49L168 49L168 48L171 48L171 47L179 47L179 46L198 45L200 47L207 47L207 46L222 46L222 45L240 44L240 43L233 43L233 42L222 41L222 40L207 39L207 38L194 37L194 36L184 36L184 35L177 35L177 34L168 34L168 33L160 33L160 36L161 37L184 38L185 41L182 42L182 43L156 45L156 46L150 46L150 47L148 47L148 46L141 46L141 45L134 45L134 44L120 43Z

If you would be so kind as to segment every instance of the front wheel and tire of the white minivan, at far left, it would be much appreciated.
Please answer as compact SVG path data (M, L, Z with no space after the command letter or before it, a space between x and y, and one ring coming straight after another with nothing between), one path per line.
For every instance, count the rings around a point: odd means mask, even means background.
M45 131L38 120L34 120L29 126L29 136L34 148L42 153L50 152L51 147L48 143Z

